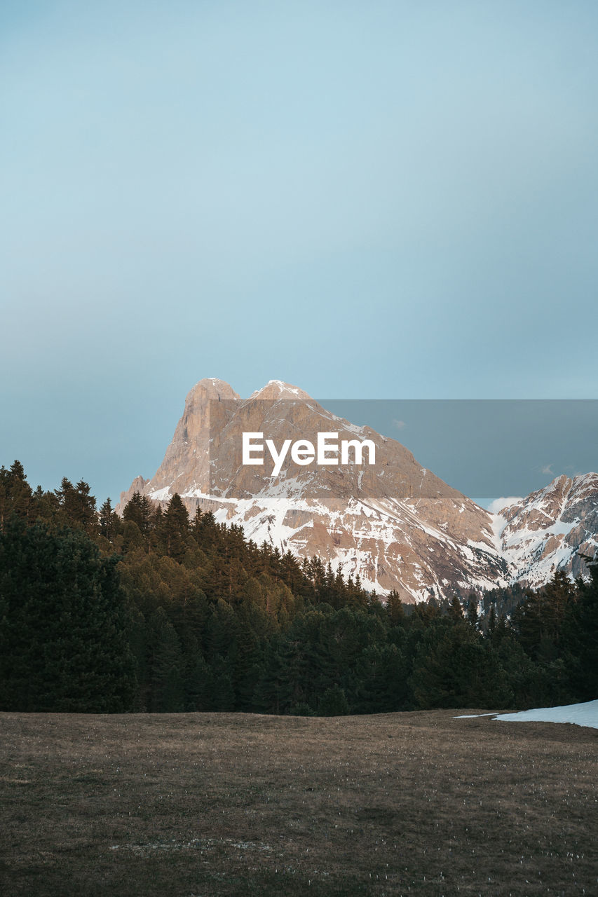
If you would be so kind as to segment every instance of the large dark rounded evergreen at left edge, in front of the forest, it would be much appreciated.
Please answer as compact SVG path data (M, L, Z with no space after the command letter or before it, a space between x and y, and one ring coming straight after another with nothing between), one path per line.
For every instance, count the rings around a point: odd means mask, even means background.
M0 706L3 710L130 710L131 616L115 559L82 530L27 527L0 535Z

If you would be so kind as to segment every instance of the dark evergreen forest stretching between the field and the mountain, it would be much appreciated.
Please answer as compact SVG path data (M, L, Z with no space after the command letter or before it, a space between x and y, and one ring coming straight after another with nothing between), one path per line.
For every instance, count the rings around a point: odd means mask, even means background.
M210 512L0 469L0 709L336 715L525 708L598 692L598 573L383 602ZM483 618L479 614L484 607ZM505 613L508 607L508 615Z

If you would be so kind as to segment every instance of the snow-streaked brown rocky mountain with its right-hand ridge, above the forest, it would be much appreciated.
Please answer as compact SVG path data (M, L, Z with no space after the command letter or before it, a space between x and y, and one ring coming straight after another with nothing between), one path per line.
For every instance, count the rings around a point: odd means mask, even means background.
M254 442L263 445L263 465L242 463L243 432L262 434ZM369 440L375 463L365 463L367 449L361 464L353 450L344 465L302 464L300 455L295 463L289 446L272 475L266 440L280 452L285 440L315 447L322 432L337 434L339 443ZM495 588L525 577L532 583L537 569L567 563L575 572L575 548L598 532L598 476L588 476L594 480L576 477L553 498L544 490L492 515L396 440L330 414L299 388L271 380L242 399L223 380L203 379L187 396L163 463L151 480L136 478L118 509L134 492L163 505L178 492L190 514L211 510L219 521L242 525L257 544L318 555L345 576L359 574L366 588L395 588L414 601L455 587Z

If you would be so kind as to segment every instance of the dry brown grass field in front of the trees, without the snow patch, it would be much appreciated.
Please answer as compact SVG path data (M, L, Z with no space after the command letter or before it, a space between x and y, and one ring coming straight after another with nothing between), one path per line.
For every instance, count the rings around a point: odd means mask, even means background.
M0 893L596 894L594 729L0 714Z

